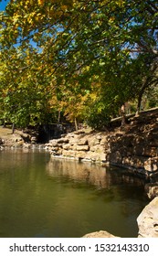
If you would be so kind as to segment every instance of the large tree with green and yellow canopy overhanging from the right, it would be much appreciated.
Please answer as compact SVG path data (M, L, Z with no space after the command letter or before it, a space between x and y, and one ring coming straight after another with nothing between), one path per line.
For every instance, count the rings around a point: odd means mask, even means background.
M32 76L35 65L47 88L53 84L48 94L60 109L69 93L93 94L95 81L91 114L109 120L125 101L137 98L139 109L144 91L157 85L157 11L155 0L10 1L1 14L1 51L34 48L25 69ZM74 108L67 111L74 117Z

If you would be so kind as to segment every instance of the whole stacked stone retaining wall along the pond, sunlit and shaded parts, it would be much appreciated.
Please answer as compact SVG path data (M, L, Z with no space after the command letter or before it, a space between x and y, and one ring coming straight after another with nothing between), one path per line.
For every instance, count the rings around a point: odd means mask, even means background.
M49 141L52 157L118 165L152 177L158 174L158 110L132 117L109 132L78 131Z

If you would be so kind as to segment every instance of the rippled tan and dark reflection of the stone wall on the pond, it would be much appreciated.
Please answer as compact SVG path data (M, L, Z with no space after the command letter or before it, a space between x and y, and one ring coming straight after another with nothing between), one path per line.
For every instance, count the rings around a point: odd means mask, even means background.
M61 159L50 159L47 175L59 182L70 182L74 187L91 187L100 195L113 187L117 187L120 192L126 189L121 197L138 197L138 193L143 194L145 184L143 179L128 175L128 171L121 168Z

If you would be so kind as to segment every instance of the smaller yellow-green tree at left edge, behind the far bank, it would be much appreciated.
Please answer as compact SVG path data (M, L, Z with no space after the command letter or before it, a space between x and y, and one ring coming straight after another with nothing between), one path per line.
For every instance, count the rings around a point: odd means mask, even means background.
M3 51L1 60L1 119L20 127L52 122L57 110L50 107L51 85L45 70L38 72L37 52L10 48Z

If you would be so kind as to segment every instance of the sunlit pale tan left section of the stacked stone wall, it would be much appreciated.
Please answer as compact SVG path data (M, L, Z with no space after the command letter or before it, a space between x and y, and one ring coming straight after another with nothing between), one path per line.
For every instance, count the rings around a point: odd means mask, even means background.
M68 133L64 138L49 141L46 147L54 157L106 162L107 135L105 133Z

